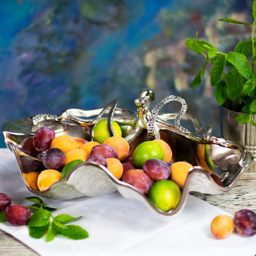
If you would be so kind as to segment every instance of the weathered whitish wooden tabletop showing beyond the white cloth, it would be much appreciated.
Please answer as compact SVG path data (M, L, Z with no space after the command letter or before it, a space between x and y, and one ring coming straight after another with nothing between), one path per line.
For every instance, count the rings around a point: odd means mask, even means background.
M225 194L205 195L191 193L204 201L221 209L234 213L240 209L256 212L256 172L245 172L236 186ZM34 256L39 255L28 246L0 229L1 256Z

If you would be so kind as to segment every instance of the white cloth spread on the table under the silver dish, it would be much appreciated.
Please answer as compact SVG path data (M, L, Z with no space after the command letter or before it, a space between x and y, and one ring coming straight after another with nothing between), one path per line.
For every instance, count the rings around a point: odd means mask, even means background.
M8 149L0 149L0 192L11 196L12 204L30 205L24 200L33 196L24 184L14 157ZM228 214L194 196L188 196L183 211L170 221L158 220L136 200L129 200L118 192L101 197L77 200L53 200L43 198L50 207L60 213L81 220L79 225L89 232L84 240L55 237L46 243L45 236L34 239L28 235L28 227L14 227L0 223L0 228L15 236L42 256L70 255L175 255L175 256L254 256L256 235L242 237L232 233L217 240L210 231L212 219ZM230 215L230 214L228 214ZM1 248L0 248L1 255Z

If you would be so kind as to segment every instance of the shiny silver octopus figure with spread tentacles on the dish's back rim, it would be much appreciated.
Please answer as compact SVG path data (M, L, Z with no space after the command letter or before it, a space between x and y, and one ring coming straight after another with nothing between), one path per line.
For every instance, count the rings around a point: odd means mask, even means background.
M81 126L91 126L99 122L101 119L107 116L107 125L110 136L114 136L115 133L112 127L112 121L116 121L123 127L123 132L126 134L125 139L128 143L138 138L143 130L148 130L148 139L159 139L159 130L177 130L182 133L190 134L190 132L180 125L180 120L184 119L191 121L194 124L195 132L202 134L202 137L210 136L212 133L212 125L208 125L202 128L200 122L189 114L186 114L187 104L186 101L178 96L167 96L156 104L156 106L150 110L150 104L154 101L155 94L152 90L144 88L140 90L139 97L134 100L134 104L137 106L137 112L133 112L128 109L117 108L118 101L111 101L105 108L94 110L81 110L71 108L63 111L60 115L40 114L33 116L32 122L35 125L34 130L38 129L38 123L44 120L56 120L56 121L69 121ZM165 113L158 114L158 111L168 102L178 101L181 103L181 109L178 113ZM90 118L96 116L95 118ZM175 126L168 122L168 120L175 120ZM192 134L190 134L193 136ZM194 137L194 136L193 136Z

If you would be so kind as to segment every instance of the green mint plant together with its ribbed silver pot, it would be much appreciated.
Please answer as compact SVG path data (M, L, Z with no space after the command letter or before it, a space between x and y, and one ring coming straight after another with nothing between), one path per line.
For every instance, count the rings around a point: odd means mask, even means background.
M233 19L219 19L250 26L251 38L238 42L234 51L219 52L212 44L196 38L186 38L189 50L203 54L205 64L197 73L190 87L201 84L207 65L212 65L210 82L215 86L214 95L220 106L222 136L237 141L252 153L254 161L250 171L256 171L256 0L252 4L252 24Z

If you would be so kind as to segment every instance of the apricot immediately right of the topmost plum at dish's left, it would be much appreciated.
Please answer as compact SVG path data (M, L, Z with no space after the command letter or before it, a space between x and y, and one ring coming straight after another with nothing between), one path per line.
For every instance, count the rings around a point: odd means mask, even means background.
M60 135L52 140L50 148L60 148L64 154L67 152L78 149L76 140L68 135Z

